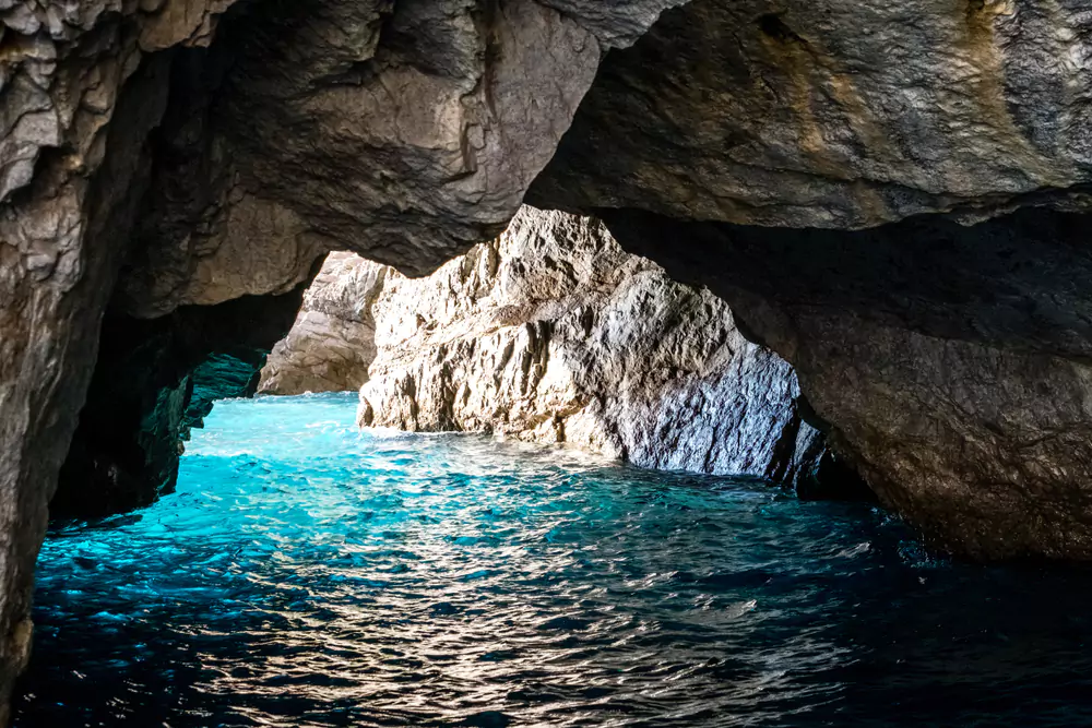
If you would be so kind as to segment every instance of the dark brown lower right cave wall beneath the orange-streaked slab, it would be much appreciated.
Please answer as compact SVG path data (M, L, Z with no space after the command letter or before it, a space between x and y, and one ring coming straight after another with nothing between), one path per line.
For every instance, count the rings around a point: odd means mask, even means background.
M934 544L1092 556L1083 215L858 232L604 215L792 361L832 445Z

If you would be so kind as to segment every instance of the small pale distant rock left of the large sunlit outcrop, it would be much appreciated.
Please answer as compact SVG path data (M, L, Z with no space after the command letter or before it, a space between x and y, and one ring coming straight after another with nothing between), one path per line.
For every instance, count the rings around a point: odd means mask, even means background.
M376 358L372 305L391 268L354 253L330 253L304 296L292 331L262 369L263 394L347 392L368 381Z

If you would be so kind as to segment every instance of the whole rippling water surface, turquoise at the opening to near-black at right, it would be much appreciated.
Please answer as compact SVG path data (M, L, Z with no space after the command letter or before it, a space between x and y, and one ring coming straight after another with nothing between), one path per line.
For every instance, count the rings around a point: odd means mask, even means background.
M221 403L176 494L51 533L16 725L1092 725L1084 569L354 407Z

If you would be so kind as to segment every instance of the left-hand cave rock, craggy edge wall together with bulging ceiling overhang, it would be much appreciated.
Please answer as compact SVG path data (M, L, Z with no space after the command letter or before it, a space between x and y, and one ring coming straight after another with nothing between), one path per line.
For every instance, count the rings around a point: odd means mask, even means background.
M335 247L438 265L514 214L601 53L667 4L0 3L0 723L116 286L151 318L287 295Z

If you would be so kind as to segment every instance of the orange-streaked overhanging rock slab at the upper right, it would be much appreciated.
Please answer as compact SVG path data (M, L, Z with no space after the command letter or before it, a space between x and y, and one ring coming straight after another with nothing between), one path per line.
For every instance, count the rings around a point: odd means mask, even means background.
M1088 207L1079 2L692 0L613 51L534 204L860 228Z

